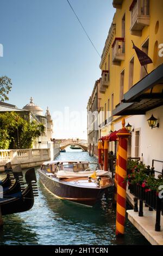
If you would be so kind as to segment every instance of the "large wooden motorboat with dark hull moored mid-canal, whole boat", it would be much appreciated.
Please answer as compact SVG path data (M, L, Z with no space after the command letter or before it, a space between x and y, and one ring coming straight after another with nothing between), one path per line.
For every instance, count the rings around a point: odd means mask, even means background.
M113 192L114 181L98 163L48 161L38 173L49 192L73 203L93 206L105 192Z

